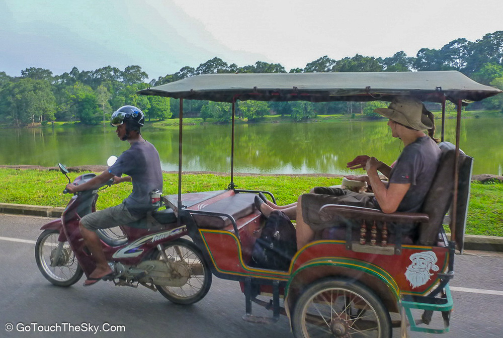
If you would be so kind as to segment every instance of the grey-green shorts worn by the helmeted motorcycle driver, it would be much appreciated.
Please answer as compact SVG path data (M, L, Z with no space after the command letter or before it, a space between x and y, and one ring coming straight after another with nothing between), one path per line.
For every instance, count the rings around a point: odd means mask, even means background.
M138 217L133 217L131 215L124 203L121 203L115 207L90 213L82 217L82 219L80 219L80 223L86 229L96 231L98 229L107 229L113 228L114 226L128 224L137 221L138 219Z

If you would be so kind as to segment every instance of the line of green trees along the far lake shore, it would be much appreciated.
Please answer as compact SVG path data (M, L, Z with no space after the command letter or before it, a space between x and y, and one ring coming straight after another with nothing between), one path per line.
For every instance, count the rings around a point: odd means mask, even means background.
M458 70L470 78L503 89L503 31L488 33L474 42L460 38L440 49L422 48L415 57L403 51L381 58L356 54L340 60L322 56L289 72L360 72L360 71L434 71ZM276 73L286 72L280 63L257 61L253 65L227 64L214 57L196 68L182 67L145 82L148 74L139 65L123 70L106 66L96 70L79 70L53 75L49 69L30 67L21 76L9 76L0 71L0 123L25 126L30 123L45 124L50 121L79 121L82 124L99 124L110 118L112 111L131 104L145 113L147 120L165 120L178 116L178 100L156 96L138 96L136 92L189 76L215 73ZM478 108L503 110L503 99L496 96L486 99ZM289 115L294 120L312 118L318 114L354 114L373 116L379 103L310 103L310 102L239 102L238 118L255 120L275 113ZM228 104L189 101L187 115L230 119Z

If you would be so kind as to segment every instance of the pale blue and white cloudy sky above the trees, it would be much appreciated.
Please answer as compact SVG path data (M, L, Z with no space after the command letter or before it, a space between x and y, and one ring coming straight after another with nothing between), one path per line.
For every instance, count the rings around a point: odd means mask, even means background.
M287 71L503 30L503 0L0 0L0 71L140 65L157 78L215 56Z

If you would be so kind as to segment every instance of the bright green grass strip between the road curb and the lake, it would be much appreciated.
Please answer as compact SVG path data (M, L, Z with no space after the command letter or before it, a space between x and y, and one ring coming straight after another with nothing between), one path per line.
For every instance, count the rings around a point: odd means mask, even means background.
M70 174L70 179L77 176ZM220 190L229 184L229 176L197 174L183 176L183 193ZM63 207L69 196L61 194L68 181L57 171L0 169L0 202ZM240 189L271 191L278 204L297 201L298 196L312 187L341 183L341 178L323 176L237 176ZM130 183L112 186L100 193L97 208L119 204L129 193ZM164 173L165 195L178 192L178 175ZM466 233L503 236L503 184L473 183L468 206Z

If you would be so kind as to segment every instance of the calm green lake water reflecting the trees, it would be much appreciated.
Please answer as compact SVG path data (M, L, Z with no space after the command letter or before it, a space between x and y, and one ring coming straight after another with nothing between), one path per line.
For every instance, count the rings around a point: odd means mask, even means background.
M440 121L437 120L438 137ZM455 120L448 120L446 140L455 141ZM0 129L0 164L68 166L106 164L127 149L112 127ZM231 126L184 128L184 171L230 172ZM165 171L178 170L178 128L148 126L143 137L159 151ZM386 121L267 123L236 125L235 172L270 174L347 174L346 163L358 154L391 163L402 145ZM461 148L475 158L473 174L503 175L503 118L462 120Z

